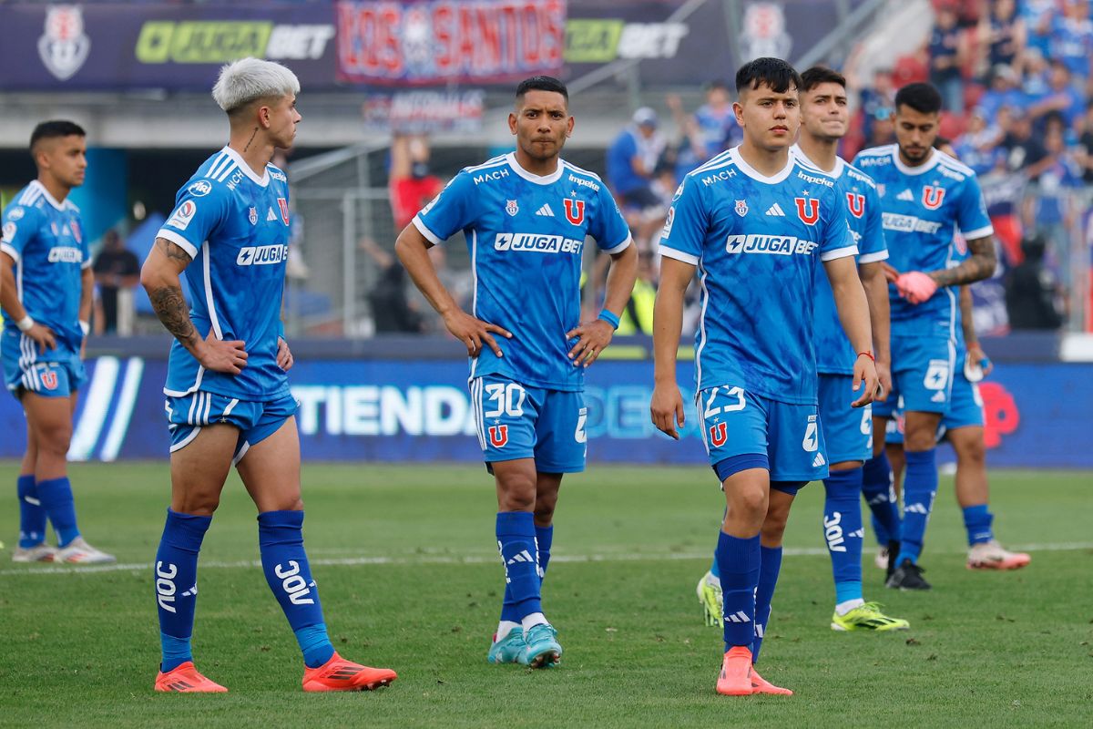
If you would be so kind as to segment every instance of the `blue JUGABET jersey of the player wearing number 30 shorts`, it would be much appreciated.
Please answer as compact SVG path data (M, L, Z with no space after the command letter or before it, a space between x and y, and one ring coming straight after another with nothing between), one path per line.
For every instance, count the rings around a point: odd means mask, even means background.
M552 390L584 388L566 332L580 324L585 237L609 254L631 243L603 181L559 161L552 175L524 169L513 153L467 167L413 219L433 244L462 231L474 273L473 315L504 327L505 356L485 348L471 377L501 375Z

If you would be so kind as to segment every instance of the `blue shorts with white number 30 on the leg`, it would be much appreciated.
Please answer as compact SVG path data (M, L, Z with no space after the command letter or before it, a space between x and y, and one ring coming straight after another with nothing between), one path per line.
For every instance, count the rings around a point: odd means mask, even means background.
M588 409L583 392L525 387L497 375L475 377L469 385L486 463L534 458L540 473L585 470Z

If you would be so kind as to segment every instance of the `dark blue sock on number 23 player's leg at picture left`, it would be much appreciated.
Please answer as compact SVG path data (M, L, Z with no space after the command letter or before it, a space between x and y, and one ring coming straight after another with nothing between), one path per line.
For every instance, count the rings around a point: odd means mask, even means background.
M725 616L725 650L751 648L755 640L755 587L759 585L759 534L749 539L717 536L717 564L721 572L721 613Z

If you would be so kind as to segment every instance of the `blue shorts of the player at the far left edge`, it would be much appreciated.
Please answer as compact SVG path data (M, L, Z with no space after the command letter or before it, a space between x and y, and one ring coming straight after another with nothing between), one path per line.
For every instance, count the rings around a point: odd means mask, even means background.
M34 392L44 398L67 398L87 381L80 352L58 344L43 353L38 344L21 331L4 328L0 357L8 389L16 398Z

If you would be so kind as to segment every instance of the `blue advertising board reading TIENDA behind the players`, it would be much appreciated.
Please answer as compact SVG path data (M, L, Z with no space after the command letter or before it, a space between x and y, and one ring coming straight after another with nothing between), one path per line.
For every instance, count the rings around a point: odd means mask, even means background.
M70 458L166 458L166 363L102 356L87 365ZM691 369L681 363L681 381L690 381ZM481 460L462 361L305 361L293 368L292 381L305 459ZM651 387L649 362L599 362L589 369L589 461L706 462L693 407L678 443L649 423ZM999 364L980 392L990 466L1093 468L1085 445L1093 365ZM691 397L687 388L684 397ZM0 458L19 458L26 428L12 397L0 398ZM942 459L951 460L951 452L942 451Z

